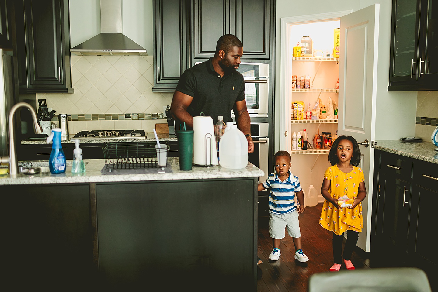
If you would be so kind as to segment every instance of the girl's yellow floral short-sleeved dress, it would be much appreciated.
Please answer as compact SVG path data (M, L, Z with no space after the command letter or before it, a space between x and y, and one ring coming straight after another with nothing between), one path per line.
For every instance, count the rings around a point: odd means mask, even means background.
M337 165L330 166L325 171L324 178L330 180L330 195L336 200L343 195L356 199L359 183L365 180L364 172L360 167L353 166L352 171L345 173L340 171ZM361 232L364 226L362 202L353 209L338 209L329 201L324 200L319 225L337 235L341 235L346 230Z

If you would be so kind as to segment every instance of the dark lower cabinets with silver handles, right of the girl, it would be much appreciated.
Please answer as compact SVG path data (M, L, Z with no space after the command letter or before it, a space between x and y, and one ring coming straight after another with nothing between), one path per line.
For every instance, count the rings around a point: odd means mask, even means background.
M432 204L438 196L438 164L375 151L371 256L376 266L414 266L431 278L438 271Z

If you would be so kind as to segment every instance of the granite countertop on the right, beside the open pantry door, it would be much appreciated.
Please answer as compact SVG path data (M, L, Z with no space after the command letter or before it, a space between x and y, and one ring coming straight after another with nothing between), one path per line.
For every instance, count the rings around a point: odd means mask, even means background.
M377 141L377 150L438 164L438 151L431 142L408 143L399 140Z

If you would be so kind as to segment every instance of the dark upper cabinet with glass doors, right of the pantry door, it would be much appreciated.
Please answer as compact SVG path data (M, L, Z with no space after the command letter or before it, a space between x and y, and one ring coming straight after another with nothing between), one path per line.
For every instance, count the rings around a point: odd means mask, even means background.
M393 0L388 91L438 90L438 0Z

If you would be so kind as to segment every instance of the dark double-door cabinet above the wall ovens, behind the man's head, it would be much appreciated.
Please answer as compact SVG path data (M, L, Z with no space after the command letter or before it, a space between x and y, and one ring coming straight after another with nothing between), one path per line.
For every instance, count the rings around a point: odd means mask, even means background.
M271 0L194 0L191 66L213 56L224 34L240 39L242 59L271 59L273 12Z

